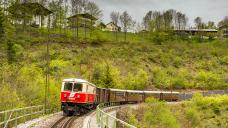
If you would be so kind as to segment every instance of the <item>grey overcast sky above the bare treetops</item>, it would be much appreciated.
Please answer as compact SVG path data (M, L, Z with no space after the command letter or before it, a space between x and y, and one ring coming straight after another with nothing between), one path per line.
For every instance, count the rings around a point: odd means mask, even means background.
M149 10L164 11L175 9L188 16L192 25L194 18L202 17L204 22L216 23L228 16L228 0L90 0L94 1L103 10L103 21L110 21L112 11L128 11L138 22Z

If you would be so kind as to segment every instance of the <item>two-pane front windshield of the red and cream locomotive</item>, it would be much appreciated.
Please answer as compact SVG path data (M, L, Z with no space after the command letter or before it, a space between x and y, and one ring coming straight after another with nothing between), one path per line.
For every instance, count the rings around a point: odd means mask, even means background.
M82 84L80 84L80 83L64 83L64 91L80 92L80 91L82 91Z

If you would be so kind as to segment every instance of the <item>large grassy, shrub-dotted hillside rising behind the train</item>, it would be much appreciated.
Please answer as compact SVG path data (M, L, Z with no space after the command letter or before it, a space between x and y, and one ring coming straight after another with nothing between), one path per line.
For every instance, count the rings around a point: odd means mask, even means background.
M61 80L81 77L98 86L128 89L227 89L228 42L169 41L157 45L139 35L94 32L83 40L73 33L50 36L50 104L58 108ZM0 108L41 104L44 99L46 30L18 32L12 42L15 62L7 64L1 45ZM89 34L88 36L89 37ZM7 95L7 97L5 97ZM17 97L17 98L15 98ZM10 100L13 99L13 100ZM12 102L11 102L12 101Z

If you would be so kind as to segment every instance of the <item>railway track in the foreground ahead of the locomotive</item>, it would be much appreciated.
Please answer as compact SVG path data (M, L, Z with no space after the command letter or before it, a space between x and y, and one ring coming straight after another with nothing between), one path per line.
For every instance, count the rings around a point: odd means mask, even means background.
M51 128L71 128L75 119L77 116L62 117Z

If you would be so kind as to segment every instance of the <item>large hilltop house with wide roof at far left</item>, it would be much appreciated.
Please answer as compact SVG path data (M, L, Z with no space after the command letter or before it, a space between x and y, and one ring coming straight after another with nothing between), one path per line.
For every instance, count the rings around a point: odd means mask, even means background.
M39 3L16 3L9 7L9 13L13 16L14 24L21 24L24 27L30 25L33 27L47 27L48 16L52 11Z

